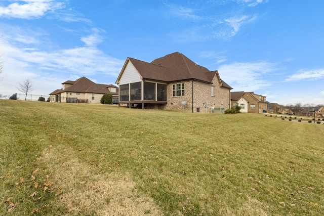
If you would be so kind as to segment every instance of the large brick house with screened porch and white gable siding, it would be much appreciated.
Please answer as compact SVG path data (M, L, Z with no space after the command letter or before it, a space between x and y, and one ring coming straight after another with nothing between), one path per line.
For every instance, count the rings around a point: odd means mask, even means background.
M127 58L116 82L119 104L142 109L223 112L232 89L219 76L176 52L151 63Z

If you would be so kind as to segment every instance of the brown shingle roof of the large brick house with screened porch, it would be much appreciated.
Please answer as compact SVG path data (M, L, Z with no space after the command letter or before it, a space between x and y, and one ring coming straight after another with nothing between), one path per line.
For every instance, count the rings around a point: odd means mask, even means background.
M153 60L151 63L128 58L143 79L160 80L166 82L196 79L212 83L218 71L209 71L207 68L197 65L183 54L176 52ZM219 76L219 75L218 75ZM232 89L221 80L222 87Z

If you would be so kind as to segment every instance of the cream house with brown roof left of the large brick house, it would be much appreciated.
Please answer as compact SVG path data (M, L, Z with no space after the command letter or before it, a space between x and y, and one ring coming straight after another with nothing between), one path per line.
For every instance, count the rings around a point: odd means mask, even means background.
M104 94L118 100L118 88L115 85L97 84L86 77L67 80L62 85L62 89L50 94L50 102L99 104Z

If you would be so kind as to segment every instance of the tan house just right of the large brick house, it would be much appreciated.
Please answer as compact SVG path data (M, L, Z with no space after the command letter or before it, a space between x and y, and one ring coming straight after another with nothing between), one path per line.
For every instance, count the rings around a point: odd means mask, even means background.
M254 92L231 92L231 106L240 106L240 112L263 113L267 111L266 97Z

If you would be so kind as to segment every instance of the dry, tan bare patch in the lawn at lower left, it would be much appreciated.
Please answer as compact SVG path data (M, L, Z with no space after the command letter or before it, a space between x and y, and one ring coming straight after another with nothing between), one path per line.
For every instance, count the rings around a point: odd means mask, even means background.
M66 148L45 149L41 160L48 164L52 181L62 192L58 195L58 205L63 205L67 213L162 214L151 197L137 191L129 174L93 174L89 164L80 161L72 149Z

